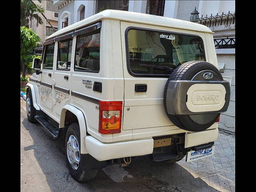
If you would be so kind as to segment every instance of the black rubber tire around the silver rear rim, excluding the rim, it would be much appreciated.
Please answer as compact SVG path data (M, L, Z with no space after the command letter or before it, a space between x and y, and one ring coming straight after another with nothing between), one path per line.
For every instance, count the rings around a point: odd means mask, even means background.
M70 135L74 135L79 143L79 150L81 151L80 147L80 128L79 124L77 122L74 122L68 126L68 130L66 132L66 139L65 139L65 154L68 164L68 170L70 172L70 175L78 182L86 182L88 180L92 180L98 173L98 169L92 169L89 166L87 168L80 166L81 164L85 164L85 159L80 154L80 164L77 170L74 170L68 161L68 155L67 155L67 142L70 137Z

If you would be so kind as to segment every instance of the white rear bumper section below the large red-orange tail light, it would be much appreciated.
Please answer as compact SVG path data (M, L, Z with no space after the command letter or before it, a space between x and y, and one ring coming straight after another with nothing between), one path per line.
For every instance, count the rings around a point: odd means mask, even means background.
M86 150L98 161L153 153L152 138L116 143L102 143L93 136L85 138Z

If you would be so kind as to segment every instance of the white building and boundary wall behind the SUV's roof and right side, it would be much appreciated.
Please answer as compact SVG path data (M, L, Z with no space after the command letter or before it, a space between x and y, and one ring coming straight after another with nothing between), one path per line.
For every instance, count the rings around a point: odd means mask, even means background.
M235 1L234 0L54 0L58 6L58 30L92 16L114 9L159 15L190 21L191 12L199 12L196 22L214 32L220 72L230 82L228 111L221 114L219 128L235 134Z

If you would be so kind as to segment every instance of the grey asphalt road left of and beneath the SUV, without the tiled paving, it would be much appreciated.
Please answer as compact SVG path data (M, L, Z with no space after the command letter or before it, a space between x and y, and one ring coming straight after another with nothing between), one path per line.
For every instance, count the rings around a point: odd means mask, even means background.
M99 170L96 178L86 184L76 182L68 172L65 156L60 152L59 142L51 139L39 124L28 122L26 102L21 99L20 105L21 192L179 191L170 184L168 176L165 178L165 174L159 178L154 176L153 172L162 170L163 166L152 165L147 158L137 158L133 160L132 166L124 169L110 166L104 169L106 173ZM122 176L124 181L120 182Z

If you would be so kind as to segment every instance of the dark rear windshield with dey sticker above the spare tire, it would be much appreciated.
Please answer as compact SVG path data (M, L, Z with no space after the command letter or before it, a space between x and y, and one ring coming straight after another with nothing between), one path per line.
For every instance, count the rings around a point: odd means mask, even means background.
M128 70L137 76L166 76L184 62L205 61L200 37L171 32L130 29L128 51Z

